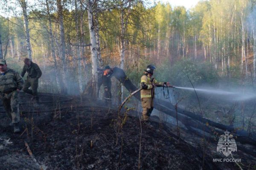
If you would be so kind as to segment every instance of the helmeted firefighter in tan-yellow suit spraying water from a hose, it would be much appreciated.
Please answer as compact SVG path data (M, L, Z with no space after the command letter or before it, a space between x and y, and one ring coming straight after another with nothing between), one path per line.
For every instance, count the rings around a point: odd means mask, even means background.
M154 109L153 99L154 99L154 85L168 85L169 82L157 82L156 79L153 78L153 72L156 69L153 65L148 65L147 69L145 69L144 75L141 77L141 105L143 107L142 112L142 120L148 122L148 119L151 115L151 112Z

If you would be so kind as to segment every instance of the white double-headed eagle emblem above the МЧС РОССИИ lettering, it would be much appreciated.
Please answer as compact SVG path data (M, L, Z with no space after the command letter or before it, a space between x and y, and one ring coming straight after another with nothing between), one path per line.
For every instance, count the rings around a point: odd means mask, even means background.
M218 141L217 152L222 152L225 156L229 156L231 152L237 151L236 141L233 135L229 135L226 131L225 135L221 135Z

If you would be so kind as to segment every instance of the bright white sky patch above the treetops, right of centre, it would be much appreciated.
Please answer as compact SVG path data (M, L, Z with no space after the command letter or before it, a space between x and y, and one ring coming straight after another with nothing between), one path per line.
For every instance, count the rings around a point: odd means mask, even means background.
M195 6L200 0L150 0L151 2L163 2L170 3L172 7L174 6L185 6L186 9L190 9L192 6Z

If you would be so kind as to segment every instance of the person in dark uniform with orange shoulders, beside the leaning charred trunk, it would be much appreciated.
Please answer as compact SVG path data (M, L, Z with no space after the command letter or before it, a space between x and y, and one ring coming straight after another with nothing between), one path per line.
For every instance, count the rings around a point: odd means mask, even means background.
M112 95L111 95L111 68L110 66L105 66L105 70L102 75L102 82L104 87L104 99L107 106L112 104Z

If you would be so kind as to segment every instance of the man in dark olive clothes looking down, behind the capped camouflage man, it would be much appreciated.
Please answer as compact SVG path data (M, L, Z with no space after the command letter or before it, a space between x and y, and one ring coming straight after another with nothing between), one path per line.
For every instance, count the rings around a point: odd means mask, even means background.
M23 87L23 92L33 95L32 99L35 99L36 103L38 104L39 97L38 97L37 89L38 89L38 79L42 75L41 69L36 63L33 63L32 61L30 61L29 58L25 58L21 76L23 77L26 72L27 72L27 79ZM29 89L30 86L32 90Z

